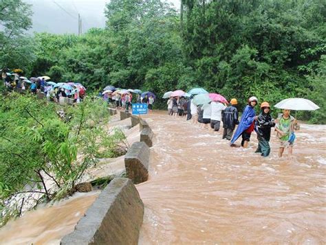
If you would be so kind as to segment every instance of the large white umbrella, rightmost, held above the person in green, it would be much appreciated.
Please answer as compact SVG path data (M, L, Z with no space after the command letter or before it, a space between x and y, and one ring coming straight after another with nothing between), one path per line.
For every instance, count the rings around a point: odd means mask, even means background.
M302 98L285 99L277 103L275 107L287 110L317 110L320 108L314 102Z

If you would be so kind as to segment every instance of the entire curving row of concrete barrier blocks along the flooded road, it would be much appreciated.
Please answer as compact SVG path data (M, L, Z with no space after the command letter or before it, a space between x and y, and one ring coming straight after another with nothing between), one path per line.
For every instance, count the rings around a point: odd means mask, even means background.
M108 108L110 115L117 110ZM111 114L113 113L113 114ZM149 178L149 146L153 131L140 117L120 111L120 119L131 117L131 124L140 124L140 142L135 142L124 156L128 178L114 178L94 204L80 219L74 232L61 240L61 245L138 244L144 217L144 204L133 183Z

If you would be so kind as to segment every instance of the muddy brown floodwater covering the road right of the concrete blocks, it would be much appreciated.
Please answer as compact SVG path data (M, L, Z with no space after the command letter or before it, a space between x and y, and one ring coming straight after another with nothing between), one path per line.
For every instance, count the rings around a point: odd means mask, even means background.
M155 140L137 187L140 244L326 244L326 126L302 125L294 158L280 160L274 134L263 159L255 133L244 150L165 113L146 120Z

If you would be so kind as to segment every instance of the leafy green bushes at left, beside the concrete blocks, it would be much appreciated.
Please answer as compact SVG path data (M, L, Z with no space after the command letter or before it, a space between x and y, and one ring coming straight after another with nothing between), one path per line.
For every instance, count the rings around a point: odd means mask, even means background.
M1 97L0 213L61 198L96 159L124 154L124 134L107 132L108 120L106 104L90 96L64 109L32 95Z

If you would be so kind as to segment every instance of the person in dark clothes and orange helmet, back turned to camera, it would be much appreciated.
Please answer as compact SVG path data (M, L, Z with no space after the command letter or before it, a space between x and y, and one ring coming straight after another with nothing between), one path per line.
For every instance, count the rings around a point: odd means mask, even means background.
M228 141L231 140L233 135L233 130L235 130L235 126L239 124L239 113L237 108L235 107L238 102L237 99L233 98L230 101L230 106L226 107L226 109L222 112L222 121L223 121L223 138Z

